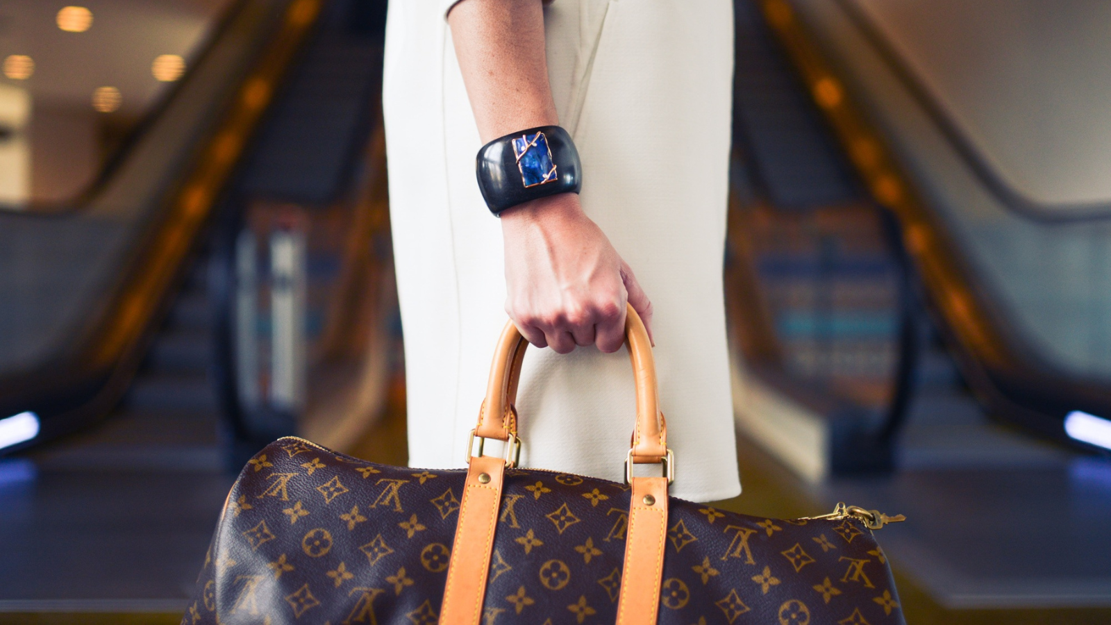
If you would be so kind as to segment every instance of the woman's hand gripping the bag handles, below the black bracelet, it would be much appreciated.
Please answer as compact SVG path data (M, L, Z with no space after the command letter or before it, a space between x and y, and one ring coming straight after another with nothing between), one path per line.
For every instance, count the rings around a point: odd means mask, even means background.
M590 220L575 194L516 206L501 214L506 245L506 311L524 338L560 354L575 345L617 351L624 341L625 301L652 335L652 302L629 265Z

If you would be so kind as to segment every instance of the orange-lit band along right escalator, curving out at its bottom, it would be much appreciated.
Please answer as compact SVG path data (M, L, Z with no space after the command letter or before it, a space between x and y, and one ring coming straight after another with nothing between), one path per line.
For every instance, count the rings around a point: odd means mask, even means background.
M1060 416L1069 409L1111 414L1111 386L1065 374L1041 357L1009 324L1008 316L977 288L972 271L952 235L918 197L911 179L813 43L789 0L761 0L764 16L811 88L833 133L845 146L875 201L899 219L907 250L934 310L939 326L957 349L958 364L973 390L992 408L1017 415L1034 428L1057 436L1063 429L1039 425L1037 414ZM837 98L823 97L838 90ZM867 147L867 149L862 149ZM1041 419L1044 421L1044 418Z

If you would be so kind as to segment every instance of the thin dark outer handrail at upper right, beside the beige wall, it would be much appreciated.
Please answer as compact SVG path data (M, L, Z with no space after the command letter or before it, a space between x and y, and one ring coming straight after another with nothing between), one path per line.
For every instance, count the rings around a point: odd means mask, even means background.
M1034 221L1059 224L1111 219L1111 201L1040 202L1013 188L975 149L968 133L945 112L940 99L930 92L929 87L914 75L905 62L901 61L894 47L873 20L864 14L864 11L853 0L834 0L834 2L844 11L844 14L874 48L891 73L898 78L911 98L937 126L953 151L1000 205Z

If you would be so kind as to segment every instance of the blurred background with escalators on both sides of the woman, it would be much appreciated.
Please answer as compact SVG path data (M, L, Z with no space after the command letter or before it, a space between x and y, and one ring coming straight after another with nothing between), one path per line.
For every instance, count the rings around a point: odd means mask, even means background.
M1111 622L1111 3L734 3L720 505ZM278 436L406 462L384 13L0 0L0 623L177 623Z

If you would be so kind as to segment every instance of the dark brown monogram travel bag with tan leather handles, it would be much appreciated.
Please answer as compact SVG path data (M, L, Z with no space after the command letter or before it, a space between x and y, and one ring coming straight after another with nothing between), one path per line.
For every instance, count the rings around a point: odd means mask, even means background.
M502 333L467 470L367 463L299 438L232 487L182 623L903 623L878 512L769 519L668 497L675 469L643 324L627 484L516 458L527 343ZM482 454L506 443L504 457ZM661 477L632 475L661 465Z

